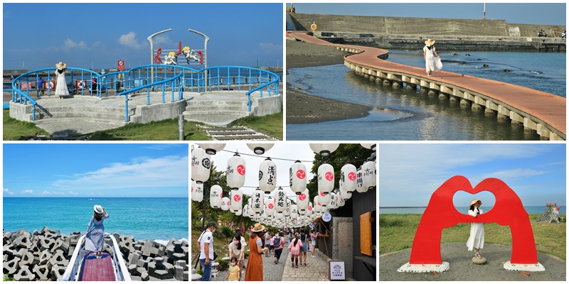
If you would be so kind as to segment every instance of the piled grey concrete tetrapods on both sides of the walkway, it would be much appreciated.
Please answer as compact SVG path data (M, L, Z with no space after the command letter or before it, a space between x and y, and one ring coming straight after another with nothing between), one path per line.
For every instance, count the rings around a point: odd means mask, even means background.
M188 241L170 239L168 244L135 241L134 236L113 234L119 245L132 280L188 280ZM73 251L81 237L80 231L62 235L44 226L32 233L25 229L3 231L3 272L18 281L61 280ZM110 239L105 239L112 246ZM105 252L112 253L107 247Z

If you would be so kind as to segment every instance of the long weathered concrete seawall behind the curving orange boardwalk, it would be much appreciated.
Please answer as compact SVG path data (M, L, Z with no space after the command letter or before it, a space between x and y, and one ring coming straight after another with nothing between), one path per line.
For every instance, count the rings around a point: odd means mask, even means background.
M290 13L298 31L310 31L313 15ZM560 38L565 26L510 24L504 20L454 18L403 18L378 16L315 16L315 35L333 43L378 48L422 48L427 38L436 38L445 50L499 50L565 52ZM559 37L537 38L545 30Z

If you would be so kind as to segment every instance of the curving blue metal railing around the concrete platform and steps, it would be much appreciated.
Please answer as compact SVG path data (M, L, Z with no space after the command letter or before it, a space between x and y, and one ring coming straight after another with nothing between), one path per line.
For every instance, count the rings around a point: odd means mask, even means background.
M36 104L32 99L31 92L36 92L36 97L40 93L47 92L50 96L55 89L40 88L37 86L40 72L48 72L47 80L55 81L53 73L56 68L45 68L26 72L14 79L11 83L12 100L27 104L28 101L33 104L32 119L36 120ZM216 66L208 67L202 70L196 70L190 67L179 65L142 65L134 67L127 71L110 72L101 75L95 71L83 68L69 67L71 78L71 92L84 95L95 92L97 97L105 97L109 91L114 89L114 95L125 96L125 121L129 121L128 117L128 94L147 89L147 104L150 104L150 92L160 90L162 92L162 103L166 102L165 92L171 89L172 102L175 100L174 92L179 92L179 99L183 99L183 92L211 92L217 87L217 90L236 87L239 91L242 87L247 87L248 92L248 111L251 111L251 94L259 91L260 97L263 96L263 90L266 89L269 97L272 94L279 94L280 76L259 68L240 67L240 66ZM75 75L79 72L79 75ZM43 76L45 77L45 76ZM92 77L97 82L96 88L93 89ZM75 79L77 78L77 79ZM80 82L79 82L80 81ZM34 83L36 87L33 87ZM25 84L25 88L22 87ZM68 83L69 84L69 83ZM17 87L16 87L17 86ZM121 92L122 91L122 92Z

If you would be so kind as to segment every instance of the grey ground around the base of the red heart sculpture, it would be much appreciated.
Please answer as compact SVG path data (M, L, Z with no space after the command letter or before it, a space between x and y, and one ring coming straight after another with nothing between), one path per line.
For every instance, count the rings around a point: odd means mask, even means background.
M395 253L386 253L379 256L380 281L527 281L527 280L563 280L565 281L566 266L555 256L538 252L538 261L546 271L529 272L529 276L522 275L520 271L506 271L504 262L509 261L511 246L499 244L484 244L480 251L486 258L486 263L477 265L472 263L472 251L467 251L464 243L441 244L442 261L450 263L449 271L434 275L433 273L407 273L397 272L403 264L409 262L411 250L405 249Z

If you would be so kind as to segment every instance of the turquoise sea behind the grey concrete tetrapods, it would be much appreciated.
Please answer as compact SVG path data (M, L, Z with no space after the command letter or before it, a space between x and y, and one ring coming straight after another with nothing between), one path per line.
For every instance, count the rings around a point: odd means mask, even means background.
M3 229L32 232L48 226L61 234L84 234L95 204L110 215L103 223L107 233L134 236L137 241L188 239L187 197L4 197Z

